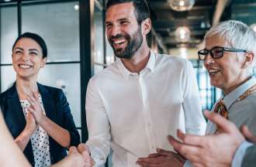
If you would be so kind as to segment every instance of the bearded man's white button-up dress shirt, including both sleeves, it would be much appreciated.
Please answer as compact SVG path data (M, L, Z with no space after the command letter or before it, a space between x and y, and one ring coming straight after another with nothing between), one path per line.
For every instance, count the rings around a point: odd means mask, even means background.
M95 74L85 108L86 145L96 166L106 162L110 145L113 166L137 166L137 158L156 148L173 150L167 136L178 128L197 135L206 129L192 64L153 52L139 74L120 59Z

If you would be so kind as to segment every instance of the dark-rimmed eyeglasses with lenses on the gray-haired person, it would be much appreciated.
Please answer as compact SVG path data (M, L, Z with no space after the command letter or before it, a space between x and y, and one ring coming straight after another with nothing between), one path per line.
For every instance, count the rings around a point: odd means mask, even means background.
M223 56L224 52L244 52L247 53L245 49L235 49L227 48L221 46L214 46L212 49L202 49L198 51L199 60L205 60L206 56L209 54L213 59L220 59Z

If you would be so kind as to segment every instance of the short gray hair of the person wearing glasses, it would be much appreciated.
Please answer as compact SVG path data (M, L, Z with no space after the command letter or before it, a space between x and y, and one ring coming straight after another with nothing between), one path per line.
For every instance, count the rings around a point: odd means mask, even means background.
M256 55L256 32L248 27L244 22L228 20L219 22L206 33L205 40L211 36L220 36L231 47L246 49Z

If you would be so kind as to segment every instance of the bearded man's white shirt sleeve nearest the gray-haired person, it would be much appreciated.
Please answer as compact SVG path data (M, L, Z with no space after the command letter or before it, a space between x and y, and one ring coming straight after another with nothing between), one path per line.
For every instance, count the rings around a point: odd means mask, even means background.
M195 70L192 63L187 61L187 68L183 73L185 112L185 132L195 135L204 135L206 131L206 121L202 115L202 107L199 98L199 87L196 82Z

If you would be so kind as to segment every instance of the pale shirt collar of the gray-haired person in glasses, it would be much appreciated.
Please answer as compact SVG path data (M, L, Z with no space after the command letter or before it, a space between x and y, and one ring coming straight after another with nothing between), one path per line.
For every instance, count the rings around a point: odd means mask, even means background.
M240 95L244 94L246 90L248 90L250 87L254 86L256 83L256 80L254 77L251 77L249 80L247 80L245 83L237 87L235 90L230 92L230 94L227 94L223 98L223 103L229 109L229 107L234 104L234 102L240 97Z

